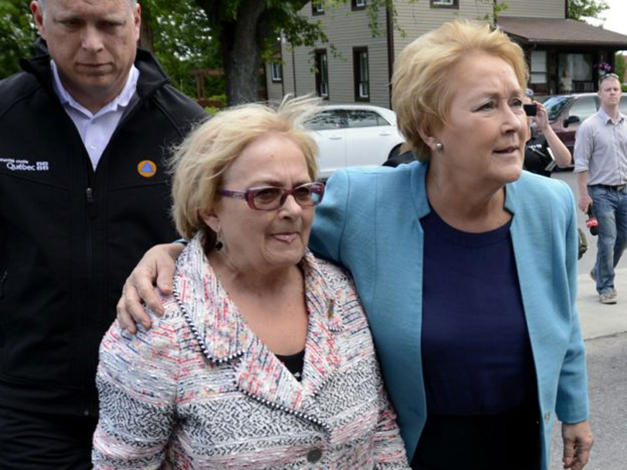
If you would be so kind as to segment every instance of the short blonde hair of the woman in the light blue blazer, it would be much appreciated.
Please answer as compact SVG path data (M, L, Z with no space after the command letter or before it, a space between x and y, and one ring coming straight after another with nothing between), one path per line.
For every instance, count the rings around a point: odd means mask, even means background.
M433 132L446 125L456 91L451 73L463 58L475 52L507 62L520 87L525 88L529 68L522 49L488 23L445 23L406 46L394 63L392 108L399 130L420 160L427 160L431 149L420 137L419 128Z

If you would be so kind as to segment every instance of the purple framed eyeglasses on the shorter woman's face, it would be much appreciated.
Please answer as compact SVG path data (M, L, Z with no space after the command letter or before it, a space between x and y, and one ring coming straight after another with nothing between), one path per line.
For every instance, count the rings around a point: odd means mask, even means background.
M313 182L300 184L292 189L276 186L253 187L248 191L231 191L230 189L220 189L219 194L233 199L241 199L248 202L251 209L257 211L273 211L283 207L285 199L292 195L294 201L299 206L315 206L322 201L324 196L324 183Z

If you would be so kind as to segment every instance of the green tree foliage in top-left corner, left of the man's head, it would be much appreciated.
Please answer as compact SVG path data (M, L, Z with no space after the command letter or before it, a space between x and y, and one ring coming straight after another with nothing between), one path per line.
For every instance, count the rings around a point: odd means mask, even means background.
M0 1L0 78L20 70L19 59L31 55L37 37L24 0Z

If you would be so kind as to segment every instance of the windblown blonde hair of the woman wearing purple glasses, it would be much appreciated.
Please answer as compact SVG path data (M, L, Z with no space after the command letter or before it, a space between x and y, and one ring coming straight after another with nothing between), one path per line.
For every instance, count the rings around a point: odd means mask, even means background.
M172 217L186 240L202 231L206 249L213 248L216 234L201 213L218 201L222 175L243 150L257 138L278 133L298 145L305 155L312 180L318 172L318 146L302 124L320 109L319 98L286 97L278 108L261 103L241 105L219 112L193 130L174 150L170 163Z

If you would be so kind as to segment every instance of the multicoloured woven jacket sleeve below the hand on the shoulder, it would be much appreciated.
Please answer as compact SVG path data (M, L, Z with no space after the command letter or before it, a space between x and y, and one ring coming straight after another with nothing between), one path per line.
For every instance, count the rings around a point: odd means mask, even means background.
M115 321L100 345L95 470L158 469L165 458L174 426L178 328L167 310L163 317L147 313L150 330L137 325L131 335Z

